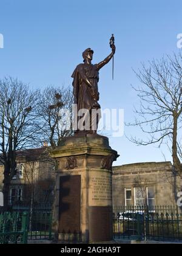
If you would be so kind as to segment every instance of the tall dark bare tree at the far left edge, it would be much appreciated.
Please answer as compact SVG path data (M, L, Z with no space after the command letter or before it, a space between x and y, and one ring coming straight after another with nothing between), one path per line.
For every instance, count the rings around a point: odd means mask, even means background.
M35 146L38 91L11 77L0 80L0 161L4 165L4 208L16 174L16 151Z

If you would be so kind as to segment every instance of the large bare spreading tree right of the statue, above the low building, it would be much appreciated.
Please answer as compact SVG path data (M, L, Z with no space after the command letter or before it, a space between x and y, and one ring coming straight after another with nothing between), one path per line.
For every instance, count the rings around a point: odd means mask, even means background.
M140 98L140 107L135 108L135 122L147 134L146 139L131 137L137 145L166 143L171 152L173 165L182 175L181 121L182 121L182 55L174 54L161 60L149 62L135 72L141 86L134 88Z

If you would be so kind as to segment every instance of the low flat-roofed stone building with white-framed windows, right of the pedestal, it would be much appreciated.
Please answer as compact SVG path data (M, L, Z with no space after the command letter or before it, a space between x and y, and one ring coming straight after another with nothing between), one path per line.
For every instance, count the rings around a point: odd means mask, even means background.
M171 162L113 167L113 206L175 206L182 182Z

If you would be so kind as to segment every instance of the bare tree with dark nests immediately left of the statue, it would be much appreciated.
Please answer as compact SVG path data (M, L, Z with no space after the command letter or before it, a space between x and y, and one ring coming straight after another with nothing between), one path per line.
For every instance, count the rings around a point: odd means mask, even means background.
M38 103L41 142L49 142L55 148L62 137L72 135L72 104L70 88L49 86L44 89Z

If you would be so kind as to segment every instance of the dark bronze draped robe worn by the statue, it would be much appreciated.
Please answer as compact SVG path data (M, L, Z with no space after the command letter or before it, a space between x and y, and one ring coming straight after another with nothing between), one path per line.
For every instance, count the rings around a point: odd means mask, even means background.
M76 66L75 71L72 74L73 78L73 95L74 95L74 103L77 104L77 109L88 109L90 111L90 115L92 109L100 109L100 105L98 103L99 100L99 92L98 92L98 81L99 81L99 72L97 69L97 64L78 64ZM96 99L93 99L92 88L87 85L84 79L87 78L92 85L93 91L95 92ZM91 130L90 123L90 130ZM98 120L96 121L96 126L98 126Z

